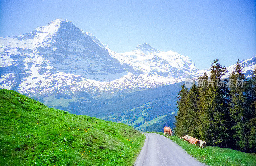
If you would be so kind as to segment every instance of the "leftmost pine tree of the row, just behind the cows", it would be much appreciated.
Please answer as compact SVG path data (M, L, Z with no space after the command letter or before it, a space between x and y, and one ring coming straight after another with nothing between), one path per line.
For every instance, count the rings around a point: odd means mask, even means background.
M184 136L188 133L188 126L186 125L187 118L187 109L186 109L186 100L188 96L188 88L185 87L185 84L181 86L181 90L177 96L177 108L178 113L175 116L175 133L177 136Z

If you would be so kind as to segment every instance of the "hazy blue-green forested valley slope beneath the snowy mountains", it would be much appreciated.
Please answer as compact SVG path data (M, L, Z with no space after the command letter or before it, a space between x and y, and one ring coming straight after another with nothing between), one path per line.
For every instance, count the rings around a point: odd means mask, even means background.
M168 116L169 118L158 119L163 123L173 124L174 117L172 113L177 109L177 95L182 83L131 93L121 92L117 95L103 96L102 98L92 98L81 92L80 95L76 95L76 98L70 99L66 105L61 104L62 100L66 101L66 99L58 99L59 102L49 102L47 105L74 114L84 114L104 120L122 122L133 126L137 130L144 131L146 127L150 126L143 125L144 123L164 115L170 116ZM55 100L51 99L51 101ZM162 131L162 129L159 128L159 130L154 131Z

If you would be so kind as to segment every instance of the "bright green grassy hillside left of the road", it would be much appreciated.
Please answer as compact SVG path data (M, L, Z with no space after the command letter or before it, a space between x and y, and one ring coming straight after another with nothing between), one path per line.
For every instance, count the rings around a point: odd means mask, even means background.
M11 90L0 90L0 124L0 165L133 165L145 139L126 124L48 108Z

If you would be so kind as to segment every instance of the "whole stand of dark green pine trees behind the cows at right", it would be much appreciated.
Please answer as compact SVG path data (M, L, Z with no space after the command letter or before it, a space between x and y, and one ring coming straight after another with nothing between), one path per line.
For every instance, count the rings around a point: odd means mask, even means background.
M256 152L256 67L250 79L241 61L229 78L216 59L210 74L199 77L190 90L181 86L175 133L204 140L210 146Z

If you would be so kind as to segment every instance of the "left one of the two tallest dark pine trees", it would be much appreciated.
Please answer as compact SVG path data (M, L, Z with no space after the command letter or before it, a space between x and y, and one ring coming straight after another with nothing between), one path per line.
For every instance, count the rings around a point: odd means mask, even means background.
M228 88L219 86L222 76L225 75L226 67L220 65L216 59L212 63L210 80L208 82L208 99L210 100L206 110L209 116L210 139L208 142L213 146L228 146ZM223 81L225 82L225 81Z

